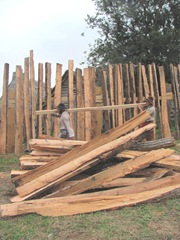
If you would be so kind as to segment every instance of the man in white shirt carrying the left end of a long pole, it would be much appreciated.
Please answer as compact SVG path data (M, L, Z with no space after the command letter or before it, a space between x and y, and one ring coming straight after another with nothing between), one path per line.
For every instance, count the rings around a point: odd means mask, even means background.
M60 103L57 106L57 113L52 114L54 117L60 118L60 133L58 135L59 138L66 139L75 139L74 138L74 130L70 124L70 116L66 111L66 106L64 103Z

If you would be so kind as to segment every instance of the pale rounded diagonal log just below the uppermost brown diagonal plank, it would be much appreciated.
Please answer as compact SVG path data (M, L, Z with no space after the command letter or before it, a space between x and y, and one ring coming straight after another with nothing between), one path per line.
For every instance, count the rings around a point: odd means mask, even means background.
M74 159L72 162L68 162L64 165L61 165L59 168L56 168L53 171L48 171L47 174L39 176L38 180L37 180L37 178L35 178L31 182L17 187L16 191L18 192L18 194L21 197L24 197L26 195L33 193L34 191L41 191L42 188L44 190L50 186L60 183L67 179L66 175L68 175L68 178L72 177L73 172L78 170L79 168L81 168L81 166L83 166L84 164L88 163L88 161L96 158L97 156L99 156L103 153L112 151L113 149L116 149L117 147L122 146L123 144L127 143L131 139L137 138L143 132L152 129L154 126L155 126L154 124L149 124L149 125L145 126L144 128L140 128L130 134L127 134L124 137L121 137L119 139L111 141L110 143L104 144L103 146L96 148L96 151L93 150L91 152L88 152L85 155ZM174 151L171 150L171 154L172 154L172 152L174 152ZM163 154L162 154L162 156L163 156ZM59 161L57 161L57 162L59 162ZM90 161L90 163L91 163L91 161ZM45 166L47 166L48 164L46 164ZM38 169L40 169L40 168L41 167L39 167Z

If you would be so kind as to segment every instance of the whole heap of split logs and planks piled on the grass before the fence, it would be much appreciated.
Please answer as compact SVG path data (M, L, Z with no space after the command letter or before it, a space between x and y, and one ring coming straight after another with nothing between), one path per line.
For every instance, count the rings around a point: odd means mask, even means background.
M132 206L179 193L180 157L161 140L160 148L140 148L149 124L142 112L88 141L31 139L32 152L12 172L17 195L0 206L2 217L38 213L65 216ZM44 138L44 139L43 139ZM164 142L164 145L162 144ZM150 144L151 145L151 144Z

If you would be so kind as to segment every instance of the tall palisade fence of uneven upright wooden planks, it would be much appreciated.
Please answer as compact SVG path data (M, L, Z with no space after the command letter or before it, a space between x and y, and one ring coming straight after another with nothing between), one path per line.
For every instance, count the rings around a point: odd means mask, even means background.
M0 153L21 153L32 138L46 134L57 137L58 119L51 117L60 102L70 113L78 140L90 140L101 132L121 125L138 114L137 105L149 95L154 97L156 123L160 137L171 136L173 106L175 138L180 138L180 65L130 64L108 65L107 69L74 69L73 60L62 75L56 64L55 87L51 86L51 64L38 64L35 81L33 51L16 66L16 87L9 89L9 64L4 65L1 98ZM166 82L171 84L167 84ZM169 90L170 86L170 90ZM46 111L44 111L46 110ZM44 114L46 113L46 114Z

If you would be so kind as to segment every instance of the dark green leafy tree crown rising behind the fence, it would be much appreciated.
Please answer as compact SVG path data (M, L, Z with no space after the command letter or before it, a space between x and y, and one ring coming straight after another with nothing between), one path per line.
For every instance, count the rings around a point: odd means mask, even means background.
M95 16L87 25L99 37L91 45L88 63L179 63L179 0L92 0Z

